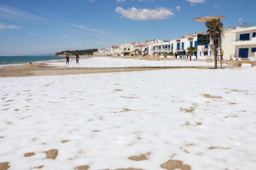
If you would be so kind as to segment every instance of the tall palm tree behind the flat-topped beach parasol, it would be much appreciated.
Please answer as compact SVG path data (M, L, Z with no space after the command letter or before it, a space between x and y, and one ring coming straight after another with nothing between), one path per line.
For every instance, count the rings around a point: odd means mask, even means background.
M213 39L213 52L215 60L215 68L217 68L217 55L216 55L216 39L220 38L221 28L223 28L223 23L220 20L210 20L205 22L205 26L208 28L207 33L210 34L210 38Z

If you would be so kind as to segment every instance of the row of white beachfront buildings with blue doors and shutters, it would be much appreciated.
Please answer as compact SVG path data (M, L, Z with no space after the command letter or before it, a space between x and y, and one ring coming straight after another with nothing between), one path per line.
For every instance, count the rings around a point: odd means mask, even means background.
M213 39L210 44L198 46L197 35L203 34L194 33L186 34L178 39L171 41L151 40L142 43L130 42L121 46L111 46L109 49L102 49L96 52L96 55L124 55L124 54L139 54L139 55L165 55L173 52L179 54L177 58L184 57L183 53L188 52L188 47L196 47L197 52L192 55L192 59L214 59ZM216 41L218 59L220 59L220 46ZM240 59L256 59L256 26L244 28L237 26L236 28L224 28L221 34L221 47L224 51L224 60Z

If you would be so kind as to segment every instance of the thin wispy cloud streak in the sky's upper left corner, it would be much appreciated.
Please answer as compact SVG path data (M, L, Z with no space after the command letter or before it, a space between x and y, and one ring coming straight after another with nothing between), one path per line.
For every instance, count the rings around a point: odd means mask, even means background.
M16 17L22 17L22 18L27 18L30 20L40 20L41 17L38 17L36 15L30 14L28 12L19 10L19 9L14 9L12 7L8 7L8 6L2 6L0 5L0 12L4 13L4 14L8 14L8 15L13 15Z

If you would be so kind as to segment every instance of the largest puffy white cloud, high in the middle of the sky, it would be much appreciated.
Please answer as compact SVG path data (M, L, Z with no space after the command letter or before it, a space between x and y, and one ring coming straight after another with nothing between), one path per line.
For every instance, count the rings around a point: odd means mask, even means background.
M163 20L174 15L171 10L163 7L156 9L137 9L132 7L127 10L117 7L115 11L132 20Z

